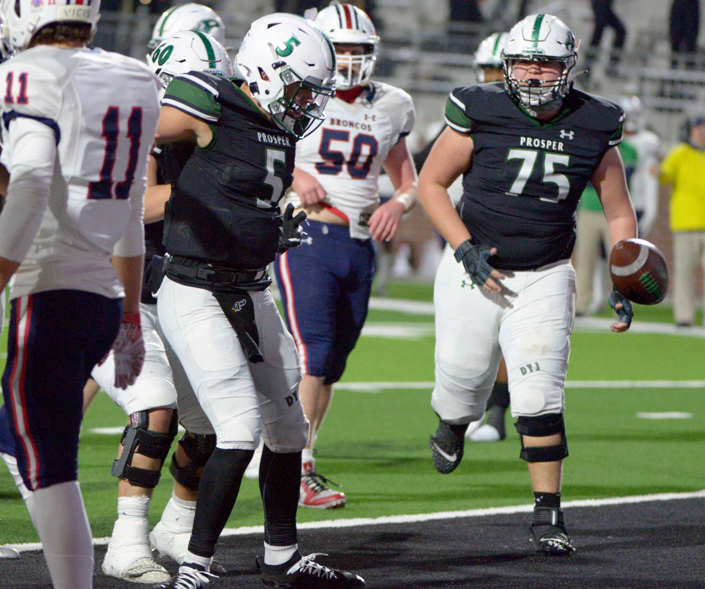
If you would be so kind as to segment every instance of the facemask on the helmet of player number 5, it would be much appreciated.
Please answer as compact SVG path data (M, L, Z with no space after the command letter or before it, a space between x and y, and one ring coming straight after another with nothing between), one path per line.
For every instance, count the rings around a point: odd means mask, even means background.
M326 80L325 85L320 80L304 80L288 66L279 72L279 77L283 87L267 108L277 125L302 139L326 118L326 104L336 94L335 80Z

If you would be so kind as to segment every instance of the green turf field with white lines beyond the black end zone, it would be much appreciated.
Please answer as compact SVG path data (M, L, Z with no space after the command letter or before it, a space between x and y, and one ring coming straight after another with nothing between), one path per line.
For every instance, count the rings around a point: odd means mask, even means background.
M398 283L390 296L428 301L429 285ZM607 315L605 315L607 316ZM636 321L670 321L670 309L636 309ZM403 337L379 337L390 324ZM434 376L433 316L373 310L365 335L350 356L344 382L428 382ZM392 333L393 330L390 330ZM404 333L404 330L402 330ZM396 333L399 335L399 333ZM0 344L4 365L5 341ZM656 333L613 334L578 328L572 340L569 380L705 379L705 340ZM317 442L319 471L343 485L348 505L336 511L300 508L300 521L440 512L527 503L525 464L513 428L508 439L466 446L450 475L436 473L427 448L436 416L431 390L339 390ZM694 388L568 388L566 500L641 495L705 488L705 390ZM642 412L680 411L690 419L639 419ZM110 476L118 435L92 428L121 426L125 417L100 394L85 418L80 481L96 537L109 535L116 516L116 480ZM154 493L156 523L171 493L168 469ZM243 482L228 526L262 523L256 481ZM13 481L0 466L0 543L37 540Z

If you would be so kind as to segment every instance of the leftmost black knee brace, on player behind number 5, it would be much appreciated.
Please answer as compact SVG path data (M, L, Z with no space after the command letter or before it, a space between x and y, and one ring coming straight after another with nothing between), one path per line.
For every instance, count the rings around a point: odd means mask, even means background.
M176 438L178 431L178 417L176 411L171 416L171 423L167 433L147 429L149 424L149 411L137 411L130 415L130 425L125 427L120 443L123 445L121 457L113 461L111 475L126 479L130 485L153 489L159 483L161 469L152 471L132 466L135 453L148 458L164 460L171 447L171 442Z

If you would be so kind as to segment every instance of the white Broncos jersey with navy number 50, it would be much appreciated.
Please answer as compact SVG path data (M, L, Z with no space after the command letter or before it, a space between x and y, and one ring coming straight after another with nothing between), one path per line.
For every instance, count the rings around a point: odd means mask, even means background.
M296 144L295 166L314 175L326 191L326 204L345 213L350 236L369 238L360 225L378 206L377 180L389 151L414 128L416 113L409 94L372 82L348 104L339 98L326 106L326 120ZM300 199L294 192L288 201Z

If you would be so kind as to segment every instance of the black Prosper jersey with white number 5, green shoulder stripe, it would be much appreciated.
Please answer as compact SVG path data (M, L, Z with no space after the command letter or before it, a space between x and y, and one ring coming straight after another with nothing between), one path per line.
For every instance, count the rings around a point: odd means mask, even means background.
M166 89L161 104L207 122L213 140L194 149L172 185L164 246L172 255L256 269L276 256L278 202L293 181L295 138L239 82L193 71Z

